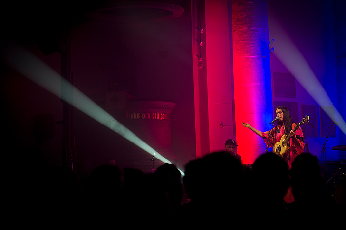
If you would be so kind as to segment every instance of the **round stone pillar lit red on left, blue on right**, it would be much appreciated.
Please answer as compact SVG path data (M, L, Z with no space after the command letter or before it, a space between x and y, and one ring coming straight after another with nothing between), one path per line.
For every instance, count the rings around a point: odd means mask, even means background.
M266 0L232 0L232 27L238 153L251 164L266 144L241 122L266 131L273 118Z

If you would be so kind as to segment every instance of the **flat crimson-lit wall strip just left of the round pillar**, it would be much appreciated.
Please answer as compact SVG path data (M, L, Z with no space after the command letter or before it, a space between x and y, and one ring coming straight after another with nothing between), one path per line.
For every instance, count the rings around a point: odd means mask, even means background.
M205 6L209 144L215 152L224 150L227 139L235 139L233 123L226 124L233 121L229 14L227 0L206 0Z

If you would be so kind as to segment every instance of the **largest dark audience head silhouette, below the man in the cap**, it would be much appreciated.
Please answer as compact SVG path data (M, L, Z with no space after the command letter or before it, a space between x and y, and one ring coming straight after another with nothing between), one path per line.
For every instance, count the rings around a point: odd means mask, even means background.
M239 160L215 152L186 165L183 184L191 202L182 207L187 226L220 226L242 216L245 174Z

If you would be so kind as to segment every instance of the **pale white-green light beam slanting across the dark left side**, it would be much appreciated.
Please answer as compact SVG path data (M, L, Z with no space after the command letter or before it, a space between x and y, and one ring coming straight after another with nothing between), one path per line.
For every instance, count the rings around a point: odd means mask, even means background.
M98 106L76 87L71 86L71 84L63 77L61 77L56 71L52 70L38 57L28 52L24 48L21 48L14 44L7 44L1 52L1 58L13 69L18 71L31 81L35 82L42 88L45 88L49 92L53 93L65 102L84 112L99 123L110 128L111 130L124 137L128 141L134 143L149 154L155 154L155 157L163 163L172 164L168 159L164 158L150 145L137 137L123 124L119 123L114 117L112 117L104 109ZM61 93L61 84L65 84L66 86L69 85L70 87L72 87L74 95L73 98L70 98ZM178 170L182 175L184 175L184 173L180 169Z

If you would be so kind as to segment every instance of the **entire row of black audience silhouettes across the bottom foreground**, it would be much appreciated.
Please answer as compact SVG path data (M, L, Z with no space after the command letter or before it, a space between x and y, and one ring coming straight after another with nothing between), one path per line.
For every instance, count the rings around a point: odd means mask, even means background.
M27 190L17 199L21 205L52 213L65 208L71 215L103 216L129 228L143 223L172 229L223 228L247 220L262 226L268 221L285 223L289 216L299 223L326 212L328 218L327 214L345 207L345 202L335 205L318 159L310 153L296 157L289 170L274 153L261 154L248 167L226 152L213 152L188 162L184 176L167 163L153 173L100 165L84 180L66 167L44 167L36 160L19 166L15 174L19 185L14 188ZM292 204L284 201L289 187ZM345 200L345 194L338 199ZM71 204L74 208L66 209Z

